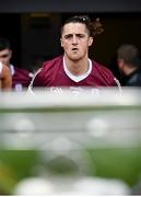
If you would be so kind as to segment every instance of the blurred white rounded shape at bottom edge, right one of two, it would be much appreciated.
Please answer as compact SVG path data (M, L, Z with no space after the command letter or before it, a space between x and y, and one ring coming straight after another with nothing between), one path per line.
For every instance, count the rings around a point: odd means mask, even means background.
M83 177L74 182L74 190L83 195L129 195L126 183L118 179Z

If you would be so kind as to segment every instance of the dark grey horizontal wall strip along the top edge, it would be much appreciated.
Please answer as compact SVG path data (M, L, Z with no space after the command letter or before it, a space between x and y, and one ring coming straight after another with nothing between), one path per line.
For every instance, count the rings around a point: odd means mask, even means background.
M141 12L140 0L3 0L0 12Z

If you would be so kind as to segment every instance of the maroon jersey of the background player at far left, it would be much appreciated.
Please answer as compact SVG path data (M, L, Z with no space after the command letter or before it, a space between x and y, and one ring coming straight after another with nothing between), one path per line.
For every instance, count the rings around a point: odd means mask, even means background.
M27 70L20 69L14 66L10 66L11 74L12 74L12 88L15 91L22 91L27 88L32 81L32 73Z

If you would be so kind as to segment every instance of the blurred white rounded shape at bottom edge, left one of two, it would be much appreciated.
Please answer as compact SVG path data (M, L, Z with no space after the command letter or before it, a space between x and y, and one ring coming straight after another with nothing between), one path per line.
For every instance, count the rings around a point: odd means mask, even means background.
M54 185L39 177L30 177L21 181L13 195L51 195L54 193Z

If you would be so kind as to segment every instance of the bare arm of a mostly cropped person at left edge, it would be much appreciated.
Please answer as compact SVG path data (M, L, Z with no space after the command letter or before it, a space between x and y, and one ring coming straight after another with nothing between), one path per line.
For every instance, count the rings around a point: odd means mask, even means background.
M12 88L12 77L9 67L0 61L0 91L8 91Z

